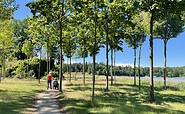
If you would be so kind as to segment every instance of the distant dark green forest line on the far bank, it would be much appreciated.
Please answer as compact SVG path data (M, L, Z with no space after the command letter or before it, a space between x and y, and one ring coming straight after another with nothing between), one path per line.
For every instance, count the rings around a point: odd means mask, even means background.
M68 67L67 67L68 66ZM85 64L85 72L90 74L93 71L92 63ZM65 73L69 73L69 69L71 69L71 72L75 73L78 72L83 74L83 63L73 63L70 66L67 64L64 64L63 71ZM136 75L138 76L138 67L136 68ZM109 65L109 70L111 70L111 66ZM164 68L163 67L154 67L154 76L157 77L163 77ZM96 63L96 75L106 75L106 65L105 63ZM114 76L134 76L134 68L131 66L114 66L113 69L113 75ZM149 76L150 75L150 68L149 67L141 67L140 68L140 76ZM66 75L67 77L68 75ZM109 76L111 74L109 73ZM166 76L167 77L185 77L185 67L167 67L166 68Z

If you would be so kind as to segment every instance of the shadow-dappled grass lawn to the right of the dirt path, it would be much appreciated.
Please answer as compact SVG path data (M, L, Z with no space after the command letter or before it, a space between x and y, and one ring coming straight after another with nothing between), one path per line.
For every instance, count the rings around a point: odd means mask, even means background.
M150 103L149 81L133 86L133 79L117 78L116 84L109 85L105 92L105 76L96 76L95 105L91 106L92 77L86 78L83 86L82 75L77 80L66 83L64 92L59 94L59 102L70 114L112 113L112 114L182 114L185 113L185 83L167 83L163 90L163 82L155 82L155 102ZM109 79L110 80L110 79ZM110 81L109 81L110 83ZM138 84L138 81L137 81Z

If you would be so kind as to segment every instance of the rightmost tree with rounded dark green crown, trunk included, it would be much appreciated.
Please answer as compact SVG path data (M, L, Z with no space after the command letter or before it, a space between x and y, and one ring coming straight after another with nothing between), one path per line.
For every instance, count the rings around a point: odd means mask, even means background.
M181 14L166 13L164 19L156 22L155 36L164 41L164 89L166 89L166 45L169 39L176 38L184 30Z

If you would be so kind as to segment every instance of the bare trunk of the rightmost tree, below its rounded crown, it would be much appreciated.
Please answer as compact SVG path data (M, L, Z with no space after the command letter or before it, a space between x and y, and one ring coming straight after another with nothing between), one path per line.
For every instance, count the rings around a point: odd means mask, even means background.
M167 39L164 39L164 89L166 89L166 44Z

